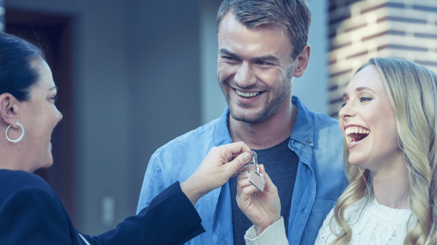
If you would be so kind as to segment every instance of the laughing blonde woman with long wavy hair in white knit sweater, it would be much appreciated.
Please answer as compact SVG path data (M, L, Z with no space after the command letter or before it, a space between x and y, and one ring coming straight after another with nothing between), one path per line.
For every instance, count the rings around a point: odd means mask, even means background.
M373 58L355 73L339 112L350 185L316 245L437 244L436 86L435 73L393 58ZM249 217L260 196L250 191L241 184L240 208ZM278 216L263 219L254 219L255 227Z

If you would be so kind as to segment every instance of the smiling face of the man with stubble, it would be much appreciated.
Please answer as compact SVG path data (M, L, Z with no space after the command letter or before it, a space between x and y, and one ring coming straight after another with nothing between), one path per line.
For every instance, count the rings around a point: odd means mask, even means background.
M286 108L294 66L283 28L248 29L229 12L219 26L218 44L217 77L233 119L261 123Z

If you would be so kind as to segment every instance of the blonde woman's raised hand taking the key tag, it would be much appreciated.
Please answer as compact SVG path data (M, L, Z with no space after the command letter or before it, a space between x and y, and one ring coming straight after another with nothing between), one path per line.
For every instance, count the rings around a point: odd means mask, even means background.
M253 169L253 166L248 168ZM281 201L278 189L264 171L264 166L261 164L259 168L260 174L265 179L264 191L261 192L249 182L249 172L245 171L238 174L236 197L238 207L255 224L257 235L260 235L267 226L281 218Z

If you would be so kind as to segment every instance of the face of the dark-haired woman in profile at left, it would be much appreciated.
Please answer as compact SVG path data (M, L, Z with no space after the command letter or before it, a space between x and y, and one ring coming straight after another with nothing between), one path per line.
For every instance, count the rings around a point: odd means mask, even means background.
M30 164L29 172L53 164L51 135L62 119L55 105L58 92L52 72L45 61L33 61L32 67L40 74L39 80L30 90L30 100L20 106L23 117L18 122L25 128L23 143L27 144L25 161Z

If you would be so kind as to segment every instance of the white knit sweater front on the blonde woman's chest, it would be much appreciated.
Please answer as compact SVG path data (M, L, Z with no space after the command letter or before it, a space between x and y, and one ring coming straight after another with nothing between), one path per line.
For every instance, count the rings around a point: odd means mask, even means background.
M352 204L345 211L345 219L350 224L352 239L349 245L402 245L407 235L407 222L411 216L409 209L393 209L380 205L375 199L361 200ZM315 245L328 245L336 236L329 228L329 221L334 214L332 209L323 221ZM410 230L416 222L411 217ZM338 226L335 225L338 231Z

